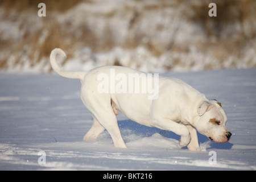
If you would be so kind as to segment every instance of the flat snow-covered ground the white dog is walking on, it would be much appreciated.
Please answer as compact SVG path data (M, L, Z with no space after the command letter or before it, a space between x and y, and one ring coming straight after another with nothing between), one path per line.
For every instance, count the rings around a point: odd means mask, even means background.
M128 148L115 148L106 131L96 142L86 143L82 137L92 117L80 100L78 80L55 74L0 73L0 169L256 169L255 68L160 75L181 78L220 101L228 117L226 127L233 134L230 141L214 143L199 134L202 151L191 152L179 146L174 133L163 137L161 130L119 114ZM209 163L210 151L216 152L216 164ZM38 163L44 159L46 164Z

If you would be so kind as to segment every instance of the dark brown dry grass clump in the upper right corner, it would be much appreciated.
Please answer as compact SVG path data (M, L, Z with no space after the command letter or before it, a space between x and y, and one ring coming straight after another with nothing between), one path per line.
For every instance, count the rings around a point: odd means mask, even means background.
M217 16L208 16L209 3L217 5ZM185 16L199 24L207 40L199 47L210 49L211 53L224 62L230 55L242 57L243 48L254 47L252 40L256 38L255 9L253 0L204 0L192 1L188 8L192 11ZM246 30L246 27L250 27Z

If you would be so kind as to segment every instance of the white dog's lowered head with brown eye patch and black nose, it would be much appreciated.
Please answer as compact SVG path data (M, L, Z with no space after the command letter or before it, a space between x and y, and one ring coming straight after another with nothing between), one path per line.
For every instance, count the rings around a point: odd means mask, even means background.
M226 129L226 114L220 102L216 100L204 101L197 109L195 127L199 133L207 136L214 142L228 142L231 133Z

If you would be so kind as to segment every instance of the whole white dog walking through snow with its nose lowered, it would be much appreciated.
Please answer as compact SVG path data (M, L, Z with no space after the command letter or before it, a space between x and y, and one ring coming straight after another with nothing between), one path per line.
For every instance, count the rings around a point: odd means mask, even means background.
M118 110L137 123L180 135L180 146L191 151L200 150L196 130L214 142L228 142L232 135L225 127L221 104L179 79L117 66L63 71L56 63L57 54L66 56L60 48L53 49L52 68L61 76L81 81L82 102L92 113L93 125L85 141L94 141L106 129L115 147L126 148L115 117Z

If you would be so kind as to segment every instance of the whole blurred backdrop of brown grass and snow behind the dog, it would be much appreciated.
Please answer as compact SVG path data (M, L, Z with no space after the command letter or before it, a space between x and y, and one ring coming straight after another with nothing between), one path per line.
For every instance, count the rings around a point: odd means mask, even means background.
M41 2L46 17L38 16ZM67 70L252 68L255 10L255 0L0 0L0 71L52 72L56 47L67 53Z

